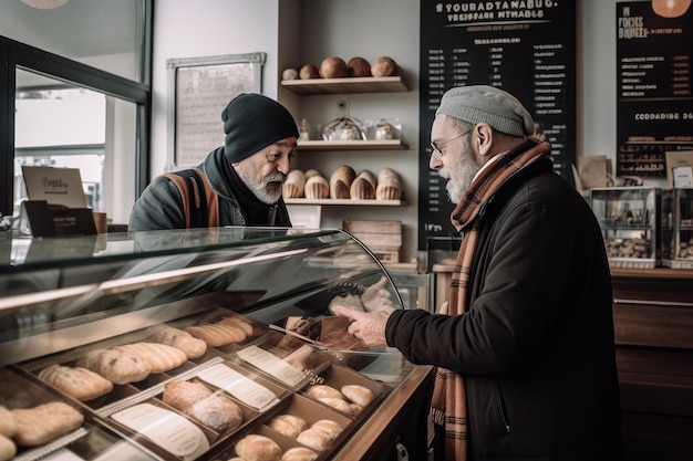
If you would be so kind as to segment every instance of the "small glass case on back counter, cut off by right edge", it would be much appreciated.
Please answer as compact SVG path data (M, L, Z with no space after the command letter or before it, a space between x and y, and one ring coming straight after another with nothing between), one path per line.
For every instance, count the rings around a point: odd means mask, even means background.
M664 199L663 199L664 201ZM666 191L663 206L662 265L672 269L693 269L693 189Z

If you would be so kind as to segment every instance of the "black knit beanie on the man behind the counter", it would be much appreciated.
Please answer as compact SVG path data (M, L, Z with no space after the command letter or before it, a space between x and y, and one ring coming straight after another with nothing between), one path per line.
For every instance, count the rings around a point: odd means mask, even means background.
M226 158L231 164L288 137L299 137L285 106L261 94L241 93L221 112Z

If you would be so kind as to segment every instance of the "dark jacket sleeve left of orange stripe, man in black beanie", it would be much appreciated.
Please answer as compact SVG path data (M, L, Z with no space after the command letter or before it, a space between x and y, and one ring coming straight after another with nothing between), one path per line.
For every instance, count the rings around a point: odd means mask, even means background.
M154 179L135 202L128 230L185 229L183 198L173 181Z

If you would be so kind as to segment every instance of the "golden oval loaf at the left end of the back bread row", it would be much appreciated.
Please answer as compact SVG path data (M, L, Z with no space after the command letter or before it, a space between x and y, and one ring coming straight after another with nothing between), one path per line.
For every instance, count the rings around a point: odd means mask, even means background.
M39 379L80 401L93 400L113 390L113 383L82 367L51 365L39 373Z

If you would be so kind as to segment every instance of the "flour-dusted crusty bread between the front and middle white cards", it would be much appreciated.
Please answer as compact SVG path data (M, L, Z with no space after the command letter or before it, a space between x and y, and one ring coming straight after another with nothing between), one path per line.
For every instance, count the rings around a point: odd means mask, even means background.
M217 432L236 429L244 418L238 405L198 381L166 384L162 400Z

